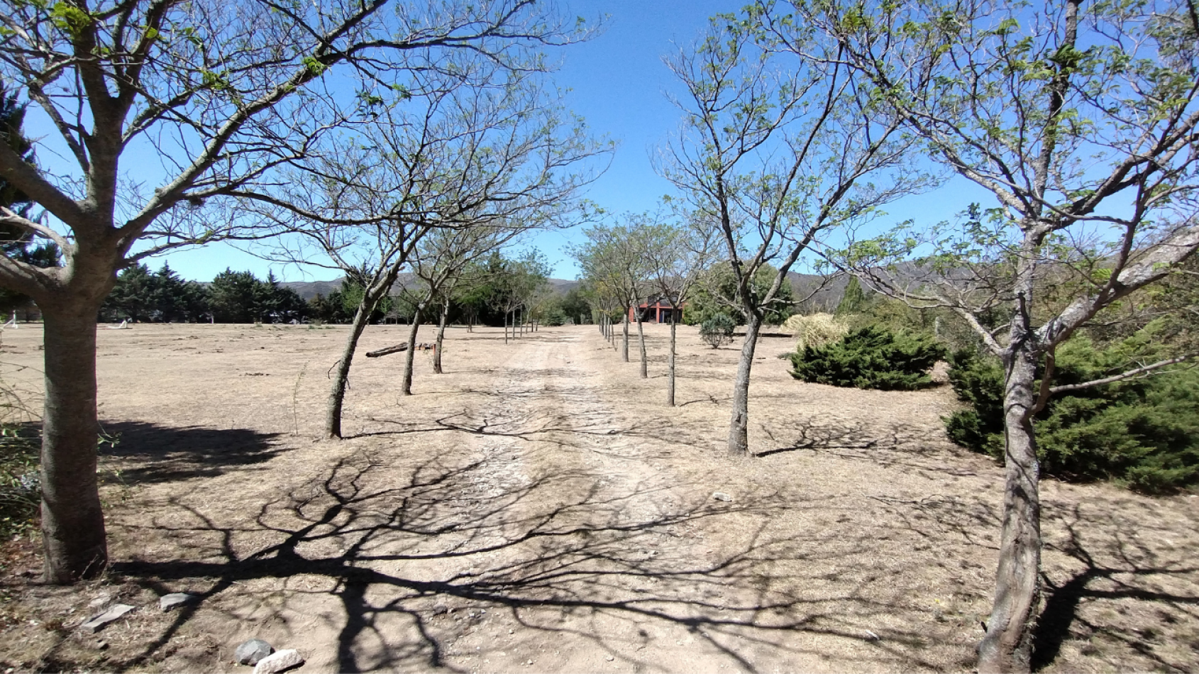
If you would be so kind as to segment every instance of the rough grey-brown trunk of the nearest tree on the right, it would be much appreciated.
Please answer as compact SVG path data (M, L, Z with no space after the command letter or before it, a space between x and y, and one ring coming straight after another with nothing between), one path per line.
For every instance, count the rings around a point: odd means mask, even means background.
M1032 627L1041 602L1040 465L1032 410L1038 354L1017 344L1004 391L1007 482L995 603L978 643L978 672L1030 672Z

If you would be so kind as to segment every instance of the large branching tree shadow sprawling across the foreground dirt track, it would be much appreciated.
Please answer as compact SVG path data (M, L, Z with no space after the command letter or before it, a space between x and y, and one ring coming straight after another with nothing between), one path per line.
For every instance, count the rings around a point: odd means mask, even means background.
M747 672L757 670L755 649L820 657L815 640L800 634L858 644L862 652L854 652L863 667L936 668L914 655L927 636L888 620L906 609L880 595L876 583L840 579L836 596L809 588L820 576L806 578L808 566L854 564L872 540L846 541L830 531L802 540L764 534L784 511L820 508L821 501L783 507L770 505L778 503L770 494L739 504L704 494L676 503L655 498L657 488L647 483L611 492L570 471L508 480L501 475L506 458L430 459L398 480L393 467L360 452L263 503L253 522L231 525L207 516L199 493L180 494L173 524L144 526L147 535L167 530L189 549L175 559L119 562L113 571L157 591L181 580L205 585L203 601L186 607L140 656L109 664L128 669L151 661L205 610L230 624L276 625L285 622L284 612L336 613L341 672L454 669L451 656L460 655L454 649L463 648L457 644L466 638L463 630L469 633L496 614L522 626L513 638L525 643L507 650L536 652L534 639L570 637L637 670L655 667L647 658L659 654L629 649L609 628L613 620L683 630L697 646ZM181 512L188 524L179 523ZM707 520L747 514L761 529L748 532L737 549L697 555L671 547ZM282 594L260 584L297 577L314 580ZM273 597L271 615L251 618L239 606L252 588ZM265 603L254 606L261 612ZM453 616L446 604L474 610ZM644 630L639 633L649 644Z

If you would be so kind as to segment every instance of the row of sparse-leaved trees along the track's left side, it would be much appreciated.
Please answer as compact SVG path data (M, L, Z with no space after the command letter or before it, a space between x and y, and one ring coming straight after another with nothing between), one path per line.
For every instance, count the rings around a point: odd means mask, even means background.
M0 285L35 301L44 321L48 582L95 577L108 562L96 318L118 272L240 240L344 276L359 302L331 373L338 437L357 339L403 271L427 281L415 312L434 312L436 294L481 252L576 217L590 160L609 145L562 109L543 52L592 28L553 7L504 5L251 4L239 6L239 25L254 26L242 32L228 30L228 5L206 0L5 2L0 77L17 114L0 143L0 225L11 234ZM26 106L58 145L24 140ZM135 162L132 149L143 152ZM56 254L38 258L30 245ZM294 303L241 281L259 317ZM193 295L189 308L164 306L195 312ZM210 312L233 308L217 300ZM501 311L511 321L523 306Z

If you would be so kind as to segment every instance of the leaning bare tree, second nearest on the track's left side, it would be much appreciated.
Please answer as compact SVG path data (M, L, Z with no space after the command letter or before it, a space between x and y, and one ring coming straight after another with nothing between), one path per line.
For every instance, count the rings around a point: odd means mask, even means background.
M350 365L367 320L429 233L498 231L494 223L519 223L504 225L511 231L549 225L573 207L574 192L590 180L578 164L600 145L582 125L564 124L537 79L487 62L474 66L448 77L415 77L416 91L368 106L363 113L370 121L359 133L333 137L295 162L300 179L273 192L237 192L264 205L259 212L281 233L294 235L281 239L285 253L276 257L311 264L303 243L315 246L366 288L335 365L326 419L331 438L342 437ZM446 236L465 241L472 235ZM295 241L300 248L287 249ZM414 338L427 302L415 303ZM405 379L405 395L410 389Z

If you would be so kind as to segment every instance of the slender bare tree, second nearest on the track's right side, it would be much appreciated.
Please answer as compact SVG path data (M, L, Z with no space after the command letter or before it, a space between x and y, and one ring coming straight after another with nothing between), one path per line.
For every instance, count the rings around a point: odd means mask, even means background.
M849 77L836 42L802 26L767 31L767 20L760 7L712 19L695 47L668 60L686 89L676 100L685 124L658 166L697 217L717 223L736 281L746 338L731 456L748 452L754 350L764 307L788 272L833 230L878 217L881 205L926 183L899 120L878 104L873 86ZM753 282L765 265L777 273L760 294Z

